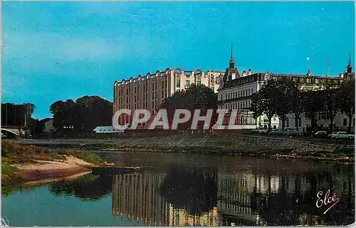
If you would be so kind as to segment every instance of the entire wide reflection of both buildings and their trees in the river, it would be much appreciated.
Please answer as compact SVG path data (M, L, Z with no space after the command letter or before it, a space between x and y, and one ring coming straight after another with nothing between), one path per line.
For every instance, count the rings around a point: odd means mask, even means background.
M349 224L355 219L353 177L330 176L194 169L114 175L112 213L155 226ZM328 188L342 197L323 215L315 195Z

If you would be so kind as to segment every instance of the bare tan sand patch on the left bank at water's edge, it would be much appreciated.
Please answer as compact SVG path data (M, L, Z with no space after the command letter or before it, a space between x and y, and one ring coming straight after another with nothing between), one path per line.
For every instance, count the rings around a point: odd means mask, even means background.
M16 168L19 169L19 177L25 182L90 173L90 168L93 164L73 156L66 156L65 158L66 160L63 161L32 160L33 163L16 165Z

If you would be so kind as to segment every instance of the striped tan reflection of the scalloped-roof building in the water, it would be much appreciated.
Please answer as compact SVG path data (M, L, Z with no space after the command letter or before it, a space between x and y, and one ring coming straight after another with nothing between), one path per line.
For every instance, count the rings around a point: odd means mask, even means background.
M112 181L112 214L131 221L155 226L215 226L217 208L201 215L189 215L165 202L159 187L165 173L114 175Z

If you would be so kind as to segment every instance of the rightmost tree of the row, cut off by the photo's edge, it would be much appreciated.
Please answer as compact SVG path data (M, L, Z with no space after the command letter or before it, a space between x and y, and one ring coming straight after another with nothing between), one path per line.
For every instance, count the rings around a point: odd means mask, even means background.
M355 114L355 80L344 80L340 85L340 111L349 118L347 133L351 132L352 116Z

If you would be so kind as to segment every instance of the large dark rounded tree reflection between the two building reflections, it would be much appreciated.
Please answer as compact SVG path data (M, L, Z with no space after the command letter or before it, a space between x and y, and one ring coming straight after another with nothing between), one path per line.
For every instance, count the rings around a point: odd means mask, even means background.
M217 170L171 166L164 178L160 194L174 208L198 215L216 207Z

